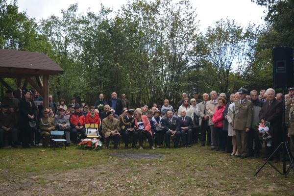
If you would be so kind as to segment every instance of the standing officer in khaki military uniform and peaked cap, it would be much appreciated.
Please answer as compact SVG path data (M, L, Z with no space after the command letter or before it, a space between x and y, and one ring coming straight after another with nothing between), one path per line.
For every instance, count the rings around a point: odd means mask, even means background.
M238 90L240 100L235 101L233 108L233 128L236 131L236 143L240 153L240 158L247 156L247 132L250 130L252 122L253 105L252 102L246 99L247 89L241 88Z

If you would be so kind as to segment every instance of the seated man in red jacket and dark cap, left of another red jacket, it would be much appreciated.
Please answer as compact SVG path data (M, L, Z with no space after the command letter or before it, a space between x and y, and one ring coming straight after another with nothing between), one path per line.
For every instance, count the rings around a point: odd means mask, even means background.
M81 134L82 138L85 138L85 117L81 113L80 106L78 104L75 104L74 106L74 113L70 117L70 123L72 127L71 140L76 143L78 134Z

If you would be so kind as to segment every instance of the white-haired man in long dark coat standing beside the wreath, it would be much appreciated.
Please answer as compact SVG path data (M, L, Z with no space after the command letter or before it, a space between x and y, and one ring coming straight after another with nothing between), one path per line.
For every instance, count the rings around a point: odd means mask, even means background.
M266 119L268 122L270 122L270 126L272 127L272 141L273 141L273 147L271 147L267 153L269 156L276 147L281 143L282 141L282 112L283 112L283 106L282 102L277 101L275 97L275 91L270 88L267 90L267 100L263 103L263 106L260 111L260 119ZM274 154L273 161L276 163L279 161L279 151L277 151Z

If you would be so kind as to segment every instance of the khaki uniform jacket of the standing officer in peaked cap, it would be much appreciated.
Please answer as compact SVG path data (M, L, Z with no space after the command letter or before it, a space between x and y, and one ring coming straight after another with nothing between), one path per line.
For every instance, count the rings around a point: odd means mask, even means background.
M251 127L253 113L253 104L245 99L242 104L240 100L235 101L233 107L233 128L236 130L245 130Z

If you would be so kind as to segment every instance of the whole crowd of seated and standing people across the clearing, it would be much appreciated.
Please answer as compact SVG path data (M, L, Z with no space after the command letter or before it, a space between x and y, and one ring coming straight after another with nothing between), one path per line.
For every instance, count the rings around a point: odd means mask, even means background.
M246 158L259 157L264 146L267 158L282 141L283 112L289 140L291 144L294 141L294 88L285 95L285 108L282 100L283 95L275 94L272 88L260 92L241 88L229 97L211 91L202 99L194 92L189 99L183 93L176 108L165 99L162 106L153 103L150 108L144 105L132 109L125 94L118 98L113 92L108 101L100 94L93 106L79 104L75 98L69 104L65 99L54 102L49 95L49 108L44 108L43 98L34 89L7 90L0 105L0 147L7 141L11 147L27 148L40 140L43 147L48 147L51 130L65 131L66 145L70 146L86 137L85 124L95 123L106 149L111 140L116 149L120 141L125 149L143 149L144 141L151 149L170 148L171 143L174 148L199 143ZM269 137L263 141L257 127L265 127L265 123L270 124L271 131L266 132ZM274 154L274 162L279 161L279 155L279 151Z

